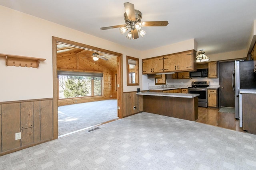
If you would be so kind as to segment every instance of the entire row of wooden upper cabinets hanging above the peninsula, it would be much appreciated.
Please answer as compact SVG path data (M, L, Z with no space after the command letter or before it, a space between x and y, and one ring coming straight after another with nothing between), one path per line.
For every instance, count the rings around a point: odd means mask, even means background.
M196 70L196 51L184 51L142 60L143 74Z

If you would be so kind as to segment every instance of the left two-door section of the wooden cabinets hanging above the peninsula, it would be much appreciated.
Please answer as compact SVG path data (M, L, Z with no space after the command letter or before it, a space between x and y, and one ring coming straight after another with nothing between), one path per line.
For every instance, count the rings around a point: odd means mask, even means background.
M151 74L157 72L163 72L164 60L163 57L154 57L152 59L142 60L142 73Z

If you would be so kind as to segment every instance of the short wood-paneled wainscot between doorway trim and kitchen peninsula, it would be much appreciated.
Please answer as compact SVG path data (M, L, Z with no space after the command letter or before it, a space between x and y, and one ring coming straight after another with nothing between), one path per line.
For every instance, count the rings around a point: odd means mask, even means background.
M143 96L136 95L136 92L126 92L122 95L122 113L123 117L133 115L143 111ZM134 106L136 107L134 109Z

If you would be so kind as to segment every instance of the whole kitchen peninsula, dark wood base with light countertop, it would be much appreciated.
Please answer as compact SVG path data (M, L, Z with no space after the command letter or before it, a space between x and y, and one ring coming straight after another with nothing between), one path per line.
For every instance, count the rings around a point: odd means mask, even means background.
M195 121L198 118L199 94L142 92L143 111Z

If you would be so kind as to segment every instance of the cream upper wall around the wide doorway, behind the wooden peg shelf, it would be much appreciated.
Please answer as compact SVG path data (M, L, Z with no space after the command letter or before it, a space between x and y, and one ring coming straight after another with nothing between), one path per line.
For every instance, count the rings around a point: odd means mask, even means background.
M53 97L52 36L122 53L124 84L126 55L141 56L140 51L4 6L0 6L0 23L0 53L46 59L39 68L27 68L6 66L4 57L0 57L0 102ZM136 91L138 87L124 85L124 91Z

